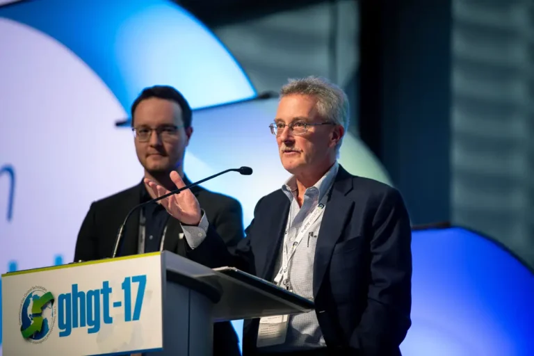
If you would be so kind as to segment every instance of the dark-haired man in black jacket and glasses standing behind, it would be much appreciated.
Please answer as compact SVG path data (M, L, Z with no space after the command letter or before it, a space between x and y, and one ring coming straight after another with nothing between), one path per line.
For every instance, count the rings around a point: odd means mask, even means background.
M172 188L170 172L188 184L184 175L184 154L193 127L192 113L186 99L169 86L146 88L131 106L131 126L136 153L145 170L145 179ZM204 213L227 248L243 239L241 204L232 197L191 189ZM74 261L111 257L115 237L127 213L136 205L156 197L143 181L125 191L93 202L83 220L76 242ZM179 220L172 218L159 203L147 204L129 219L118 252L120 256L168 250L189 257L211 268L220 267L207 255L188 252ZM216 323L213 330L214 355L240 355L237 335L230 323Z

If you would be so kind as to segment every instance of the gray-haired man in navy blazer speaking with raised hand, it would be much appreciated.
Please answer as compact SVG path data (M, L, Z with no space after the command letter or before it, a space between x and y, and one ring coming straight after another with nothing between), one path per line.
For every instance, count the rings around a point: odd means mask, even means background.
M395 188L339 165L347 127L348 100L334 84L307 77L282 88L270 131L293 176L259 200L235 254L191 192L162 203L182 222L191 254L314 300L313 312L245 321L244 356L401 355L411 325L410 218ZM179 175L170 178L184 186ZM147 184L157 196L168 193Z

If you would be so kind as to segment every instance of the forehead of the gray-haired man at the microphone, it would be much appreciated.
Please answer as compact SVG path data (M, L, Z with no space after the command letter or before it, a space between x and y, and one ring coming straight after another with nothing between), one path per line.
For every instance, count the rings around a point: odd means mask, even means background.
M280 99L275 120L284 122L297 119L313 120L316 116L318 116L316 97L293 94Z

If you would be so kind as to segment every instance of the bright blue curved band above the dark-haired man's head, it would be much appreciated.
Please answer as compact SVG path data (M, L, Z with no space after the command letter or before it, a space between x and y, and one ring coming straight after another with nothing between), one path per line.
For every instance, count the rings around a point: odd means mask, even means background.
M193 108L256 95L220 40L172 1L27 1L0 8L0 17L64 44L126 111L140 90L154 84L175 86Z

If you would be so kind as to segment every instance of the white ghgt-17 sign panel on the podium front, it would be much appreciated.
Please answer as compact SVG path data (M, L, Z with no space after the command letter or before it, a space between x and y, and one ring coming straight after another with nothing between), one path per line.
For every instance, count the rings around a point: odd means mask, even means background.
M3 355L163 348L159 252L2 278Z

